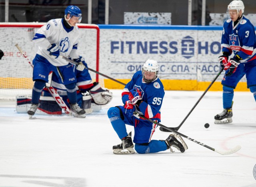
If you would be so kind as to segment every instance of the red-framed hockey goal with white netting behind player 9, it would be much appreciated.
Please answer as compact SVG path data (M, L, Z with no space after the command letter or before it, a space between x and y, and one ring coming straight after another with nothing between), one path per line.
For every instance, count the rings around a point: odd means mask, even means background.
M18 94L32 94L34 82L33 69L28 61L20 54L15 44L18 44L30 62L36 55L32 39L36 31L44 23L0 23L0 43L4 52L0 60L0 99L14 100ZM99 71L99 40L100 31L94 24L78 24L80 41L78 53L83 56L93 70ZM90 72L93 81L100 82L104 87L104 80Z

